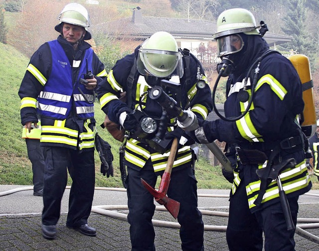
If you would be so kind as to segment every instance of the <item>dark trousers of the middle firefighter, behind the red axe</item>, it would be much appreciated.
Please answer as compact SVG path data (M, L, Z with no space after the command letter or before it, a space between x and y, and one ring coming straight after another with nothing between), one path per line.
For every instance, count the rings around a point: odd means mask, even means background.
M141 178L154 188L158 176L150 162L146 165L141 170L128 167L128 221L132 251L155 251L155 231L152 224L155 212L154 197L143 186ZM177 221L181 225L181 249L203 251L204 224L197 209L197 181L190 164L171 173L167 196L180 203Z

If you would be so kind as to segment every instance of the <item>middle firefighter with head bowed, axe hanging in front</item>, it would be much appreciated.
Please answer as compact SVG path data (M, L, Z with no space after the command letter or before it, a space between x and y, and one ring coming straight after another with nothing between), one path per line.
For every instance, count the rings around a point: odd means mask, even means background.
M201 64L188 50L182 52L173 36L163 31L154 33L133 54L118 60L98 87L101 109L110 121L130 132L124 163L128 172L126 186L132 251L155 250L154 197L143 186L141 178L155 187L158 176L166 167L171 141L175 137L179 144L167 196L180 203L177 220L181 225L181 249L202 251L204 224L197 209L190 148L194 141L188 140L183 130L177 128L176 118L164 122L166 117L162 108L147 95L152 87L160 86L161 80L175 82L176 89L166 86L164 91L199 118L205 119L212 110L211 92ZM119 100L122 92L126 92L126 103ZM163 144L157 144L154 139L160 128L165 134L160 140Z

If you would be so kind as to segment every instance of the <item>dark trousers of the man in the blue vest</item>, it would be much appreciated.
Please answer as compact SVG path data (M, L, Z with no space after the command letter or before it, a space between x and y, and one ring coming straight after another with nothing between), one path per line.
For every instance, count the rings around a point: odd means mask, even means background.
M72 178L66 225L87 224L95 186L94 148L78 153L65 147L45 147L42 224L56 225L61 199L67 184L67 169Z

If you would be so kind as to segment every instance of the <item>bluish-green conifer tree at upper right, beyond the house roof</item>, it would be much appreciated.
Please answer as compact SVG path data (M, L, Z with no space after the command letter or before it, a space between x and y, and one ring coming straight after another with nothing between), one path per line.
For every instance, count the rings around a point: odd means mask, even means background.
M285 16L282 30L286 35L292 36L293 40L281 46L284 50L294 50L309 57L312 69L315 69L317 43L311 37L306 26L308 9L305 7L306 0L287 0L288 13Z

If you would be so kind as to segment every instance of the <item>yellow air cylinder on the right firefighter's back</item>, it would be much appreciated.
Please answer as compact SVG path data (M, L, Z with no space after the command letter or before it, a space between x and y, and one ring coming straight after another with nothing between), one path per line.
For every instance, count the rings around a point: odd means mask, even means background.
M303 100L305 103L303 123L301 125L303 132L307 137L311 137L316 132L316 109L313 93L313 80L311 78L311 70L309 58L306 55L297 54L288 58L296 68L303 84Z

